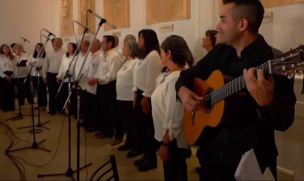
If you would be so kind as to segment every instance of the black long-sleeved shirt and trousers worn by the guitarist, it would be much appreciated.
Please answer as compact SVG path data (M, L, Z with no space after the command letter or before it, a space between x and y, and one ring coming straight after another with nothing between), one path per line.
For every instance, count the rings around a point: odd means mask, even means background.
M182 86L192 90L193 78L207 80L214 70L221 70L224 75L238 78L243 75L243 69L258 67L271 59L273 59L272 49L262 35L258 35L242 50L241 57L237 56L234 47L218 44L196 66L180 73L175 84L176 93ZM206 161L206 157L211 157L210 154L218 152L226 161L211 160L210 162L226 165L226 169L235 172L241 155L253 148L262 172L266 167L275 169L274 160L278 153L274 130L285 131L292 125L296 97L293 92L294 79L280 75L273 75L273 78L275 81L274 101L271 106L260 107L246 88L241 90L245 93L243 96L234 94L225 99L221 123L215 128L206 127L196 142L200 146L199 150L204 152L197 154L202 166L211 167L208 166L210 163ZM272 159L266 159L270 157ZM227 161L225 158L236 159L236 161ZM231 174L234 175L234 173ZM232 178L233 175L231 175Z

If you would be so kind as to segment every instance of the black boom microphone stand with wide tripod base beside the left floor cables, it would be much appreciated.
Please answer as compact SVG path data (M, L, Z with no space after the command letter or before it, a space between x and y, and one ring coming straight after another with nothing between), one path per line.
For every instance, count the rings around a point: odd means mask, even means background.
M49 36L50 36L50 35L51 35L51 34L49 34ZM36 58L36 60L35 60L35 63L36 63L37 59L41 56L42 52L44 51L44 47L45 47L46 43L48 42L48 40L49 40L48 38L45 40L44 45L43 45L43 48L40 50L39 54L37 55L37 58ZM40 61L40 59L39 59L39 61ZM32 65L32 68L33 68L33 66L35 65L35 63ZM39 69L38 67L39 67L39 64L38 64L38 66L37 66L37 69ZM31 68L29 74L31 73L32 68ZM35 73L36 73L36 71L34 72L34 74L35 74ZM25 78L23 84L26 82L26 79L27 79L27 78ZM32 93L32 95L34 96L33 76L31 76L31 81L30 81L30 82L31 82L31 93ZM38 70L38 87L39 87L39 70ZM39 88L38 88L38 92L39 92ZM40 145L41 143L45 142L45 139L42 140L42 141L40 141L40 142L38 142L38 143L36 142L36 135L35 135L35 131L36 131L36 130L35 130L35 121L34 121L34 118L35 118L35 116L34 116L34 103L31 104L31 112L32 112L32 128L33 128L33 130L32 130L32 132L33 132L33 143L32 143L32 146L23 147L23 148L19 148L19 149L15 149L15 150L9 150L9 151L7 151L7 153L8 153L8 152L13 152L13 151L25 150L25 149L28 149L28 148L32 148L32 149L41 149L41 150L44 150L44 151L47 151L47 152L51 152L51 150L45 149L45 148L43 148L43 147L39 147L39 145ZM39 112L38 112L38 113L39 113ZM18 129L19 129L19 128L18 128Z

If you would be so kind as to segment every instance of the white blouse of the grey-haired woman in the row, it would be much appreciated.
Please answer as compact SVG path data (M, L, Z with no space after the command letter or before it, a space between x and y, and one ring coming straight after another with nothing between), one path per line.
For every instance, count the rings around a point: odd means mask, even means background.
M127 60L117 72L116 99L121 101L133 101L133 74L138 59Z

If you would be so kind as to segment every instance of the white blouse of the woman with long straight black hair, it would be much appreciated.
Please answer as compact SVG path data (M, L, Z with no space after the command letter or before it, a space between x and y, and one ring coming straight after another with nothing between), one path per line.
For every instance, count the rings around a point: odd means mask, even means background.
M155 80L161 73L161 60L158 52L152 50L146 58L140 59L134 67L133 91L140 89L142 95L151 97L155 89Z

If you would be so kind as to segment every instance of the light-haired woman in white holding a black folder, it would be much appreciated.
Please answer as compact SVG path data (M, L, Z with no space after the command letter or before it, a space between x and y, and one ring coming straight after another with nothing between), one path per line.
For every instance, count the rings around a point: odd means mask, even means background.
M22 52L22 46L20 44L14 45L13 52L18 62L15 73L17 97L19 106L22 106L24 105L25 97L27 98L27 103L34 102L33 94L31 93L30 78L27 78L23 85L23 82L30 71L30 66L26 64L29 57L28 54Z

